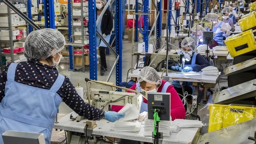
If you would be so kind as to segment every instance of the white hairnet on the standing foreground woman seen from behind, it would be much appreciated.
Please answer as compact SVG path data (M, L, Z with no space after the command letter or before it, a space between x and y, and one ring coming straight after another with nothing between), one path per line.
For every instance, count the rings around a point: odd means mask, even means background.
M46 59L60 52L65 43L64 36L56 29L32 31L26 38L24 55L31 59Z

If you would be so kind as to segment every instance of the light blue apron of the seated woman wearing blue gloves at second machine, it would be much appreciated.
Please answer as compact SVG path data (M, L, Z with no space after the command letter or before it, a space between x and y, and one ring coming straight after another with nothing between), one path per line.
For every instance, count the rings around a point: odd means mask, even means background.
M195 66L199 66L198 64L195 64L195 60L196 60L196 55L198 53L194 52L193 56L192 56L192 61L191 61L191 65L184 65L184 67L188 66L188 67L195 67ZM179 83L179 81L172 81L172 85L175 87L175 88L181 88L181 85ZM195 93L195 88L193 87L193 82L189 82L189 81L183 81L182 83L182 86L189 86L192 88L192 94Z

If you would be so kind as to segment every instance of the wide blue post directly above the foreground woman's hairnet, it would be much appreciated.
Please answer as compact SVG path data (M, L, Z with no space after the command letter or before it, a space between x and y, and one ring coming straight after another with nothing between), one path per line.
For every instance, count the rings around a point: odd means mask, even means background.
M45 28L55 29L54 0L44 0Z

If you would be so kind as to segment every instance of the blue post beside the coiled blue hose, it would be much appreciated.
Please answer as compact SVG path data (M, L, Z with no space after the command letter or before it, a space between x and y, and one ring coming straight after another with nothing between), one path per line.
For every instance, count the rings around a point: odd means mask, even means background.
M148 13L149 0L144 0L144 13ZM145 42L145 51L148 50L148 15L144 15L143 41Z

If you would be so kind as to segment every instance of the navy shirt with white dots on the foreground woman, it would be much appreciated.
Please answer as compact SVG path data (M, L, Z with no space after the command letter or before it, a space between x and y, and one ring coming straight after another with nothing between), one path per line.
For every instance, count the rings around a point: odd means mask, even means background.
M7 65L0 74L0 103L5 96L4 89L7 81ZM18 83L43 88L49 90L58 77L58 71L55 66L49 66L40 63L38 60L20 62L16 67L15 81ZM105 117L105 112L86 104L77 94L75 87L65 76L65 80L61 88L57 91L58 95L63 99L71 109L80 116L89 120L100 120Z

